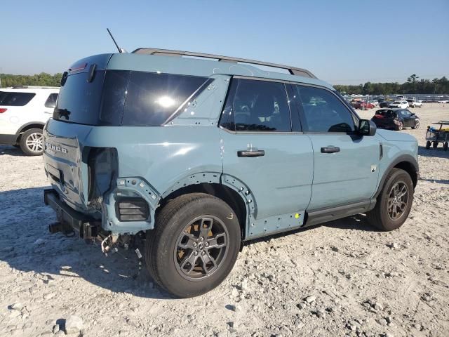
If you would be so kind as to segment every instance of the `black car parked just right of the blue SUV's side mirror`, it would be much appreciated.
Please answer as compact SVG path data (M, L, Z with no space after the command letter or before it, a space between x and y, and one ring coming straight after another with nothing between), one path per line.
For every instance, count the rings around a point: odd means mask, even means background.
M408 109L382 109L377 110L371 119L377 128L420 128L420 117Z

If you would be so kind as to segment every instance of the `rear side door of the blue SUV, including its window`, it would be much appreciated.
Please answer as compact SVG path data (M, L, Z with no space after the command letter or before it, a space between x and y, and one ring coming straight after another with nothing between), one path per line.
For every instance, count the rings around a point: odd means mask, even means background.
M313 150L309 137L300 132L287 88L281 82L234 78L220 120L223 172L252 192L255 230L257 220L300 213L310 200ZM268 226L270 220L264 223Z

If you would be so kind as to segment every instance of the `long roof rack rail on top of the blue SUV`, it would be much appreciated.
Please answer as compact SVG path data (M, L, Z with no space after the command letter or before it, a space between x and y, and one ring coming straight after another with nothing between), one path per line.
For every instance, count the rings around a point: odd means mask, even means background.
M213 55L213 54L205 54L205 53L194 53L192 51L172 51L170 49L158 49L158 48L137 48L133 51L135 54L149 54L149 55L166 55L166 56L194 56L197 58L215 58L218 61L223 62L243 62L248 63L250 65L264 65L266 67L274 67L279 69L288 70L288 72L292 75L298 75L303 77L310 77L312 79L316 79L316 76L309 72L309 70L305 70L297 67L290 67L288 65L277 65L276 63L270 62L262 62L255 60L248 60L246 58L233 58L230 56L222 56L222 55Z

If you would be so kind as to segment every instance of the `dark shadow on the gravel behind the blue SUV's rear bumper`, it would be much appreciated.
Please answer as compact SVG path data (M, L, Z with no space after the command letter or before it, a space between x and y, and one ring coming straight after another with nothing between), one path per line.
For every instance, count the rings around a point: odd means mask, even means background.
M135 251L121 249L104 256L99 244L86 244L77 237L49 234L56 218L43 204L43 188L0 192L0 260L21 272L54 279L55 275L82 277L104 289L144 298L172 298L158 289L147 274L145 263L138 273ZM142 249L141 249L142 251ZM142 251L143 254L143 251Z

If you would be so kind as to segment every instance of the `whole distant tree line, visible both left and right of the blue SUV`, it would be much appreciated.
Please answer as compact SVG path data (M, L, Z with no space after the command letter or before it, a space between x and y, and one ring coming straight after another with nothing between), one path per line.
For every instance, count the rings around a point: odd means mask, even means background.
M1 87L8 86L60 86L62 74L47 74L41 72L34 75L13 75L0 74ZM358 84L358 86L334 86L340 93L363 94L363 95L388 95L391 93L449 93L449 80L446 77L441 79L420 79L416 74L410 75L403 84L398 82Z

